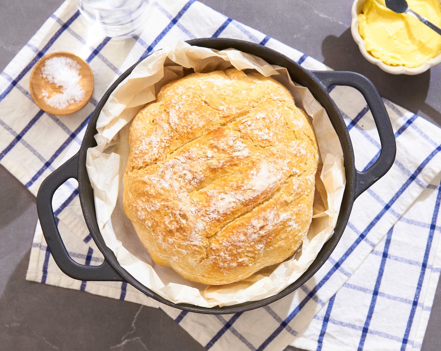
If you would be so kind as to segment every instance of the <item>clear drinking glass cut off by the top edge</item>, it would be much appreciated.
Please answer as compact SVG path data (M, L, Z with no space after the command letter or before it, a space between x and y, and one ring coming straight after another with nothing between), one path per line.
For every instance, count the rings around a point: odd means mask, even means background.
M150 0L77 0L78 8L92 26L107 37L123 37L142 30L152 9Z

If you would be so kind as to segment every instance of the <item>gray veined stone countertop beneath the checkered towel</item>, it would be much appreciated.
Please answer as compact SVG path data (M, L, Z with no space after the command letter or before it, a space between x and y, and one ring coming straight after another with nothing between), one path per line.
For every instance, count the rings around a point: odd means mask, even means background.
M61 3L0 0L0 71ZM382 96L441 125L441 65L409 76L367 62L351 36L350 0L202 3L333 69L366 75ZM159 309L26 281L35 197L3 166L0 179L0 350L203 350ZM440 312L441 284L423 351L441 350Z

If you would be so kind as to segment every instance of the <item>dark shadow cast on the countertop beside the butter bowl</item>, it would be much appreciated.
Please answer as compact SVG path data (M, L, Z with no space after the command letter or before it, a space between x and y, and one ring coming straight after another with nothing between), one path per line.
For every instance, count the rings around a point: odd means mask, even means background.
M325 58L323 63L327 66L339 71L353 71L366 75L381 96L426 117L438 126L441 125L441 113L426 103L430 69L419 75L393 75L382 71L360 53L352 38L351 28L345 30L340 37L328 35L322 42L321 51Z

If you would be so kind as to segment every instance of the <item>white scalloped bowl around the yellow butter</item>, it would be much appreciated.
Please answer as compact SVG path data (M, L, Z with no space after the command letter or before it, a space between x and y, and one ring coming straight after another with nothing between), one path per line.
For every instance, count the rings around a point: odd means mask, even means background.
M359 45L360 51L362 55L368 60L370 63L376 64L383 71L391 73L391 74L408 74L415 75L420 74L422 72L426 72L430 67L434 67L441 62L441 53L434 57L431 60L424 62L421 66L415 68L408 68L405 66L391 66L389 64L385 64L380 59L373 57L370 53L367 52L366 46L364 45L363 38L361 37L358 27L359 27L359 19L358 15L361 13L363 9L363 4L366 0L355 0L352 4L351 15L351 33L355 42Z

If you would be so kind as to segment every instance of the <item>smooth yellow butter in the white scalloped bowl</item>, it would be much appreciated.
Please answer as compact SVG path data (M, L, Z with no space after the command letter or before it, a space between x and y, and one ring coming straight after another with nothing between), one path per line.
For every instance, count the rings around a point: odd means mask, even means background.
M407 0L407 4L441 26L440 0ZM441 52L441 35L411 15L395 13L375 0L366 0L359 22L367 52L385 64L418 67Z

